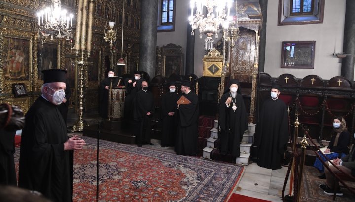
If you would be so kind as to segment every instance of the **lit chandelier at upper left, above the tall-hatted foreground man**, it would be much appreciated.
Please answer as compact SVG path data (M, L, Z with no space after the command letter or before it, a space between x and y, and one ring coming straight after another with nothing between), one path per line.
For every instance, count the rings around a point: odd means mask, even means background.
M53 37L72 38L72 19L73 14L67 13L67 10L62 10L61 0L52 0L51 7L47 7L37 13L39 34L42 41L45 42L47 37L53 41ZM69 27L70 26L70 27Z

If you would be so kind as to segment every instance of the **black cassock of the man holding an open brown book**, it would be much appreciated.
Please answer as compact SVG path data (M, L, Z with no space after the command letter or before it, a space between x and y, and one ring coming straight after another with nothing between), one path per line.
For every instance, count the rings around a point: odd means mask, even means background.
M198 138L198 96L190 91L187 95L183 94L190 104L180 105L177 111L178 132L175 140L175 152L178 155L196 155Z

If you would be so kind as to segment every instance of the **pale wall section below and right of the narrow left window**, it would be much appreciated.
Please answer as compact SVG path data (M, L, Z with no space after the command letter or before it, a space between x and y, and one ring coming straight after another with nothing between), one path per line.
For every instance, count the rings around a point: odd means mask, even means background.
M159 1L161 3L161 1ZM184 68L183 75L185 74L186 66L186 40L187 40L187 26L188 24L188 11L190 0L176 0L175 10L175 31L171 32L158 32L157 46L165 46L169 43L182 46L184 53ZM141 42L142 43L142 42Z

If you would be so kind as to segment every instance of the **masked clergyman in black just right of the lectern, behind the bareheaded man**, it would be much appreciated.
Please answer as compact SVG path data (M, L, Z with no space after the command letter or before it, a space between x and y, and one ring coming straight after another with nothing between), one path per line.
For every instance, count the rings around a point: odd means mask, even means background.
M141 77L140 71L134 72L134 78L127 78L124 83L126 87L126 97L124 101L124 127L130 128L133 120L133 101L137 92L142 90L142 82L145 81Z

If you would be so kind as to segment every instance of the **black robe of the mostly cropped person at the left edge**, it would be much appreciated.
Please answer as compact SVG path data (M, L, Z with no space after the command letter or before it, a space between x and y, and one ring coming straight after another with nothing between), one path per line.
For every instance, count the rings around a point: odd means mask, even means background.
M15 162L15 134L14 131L0 129L0 184L17 186Z

